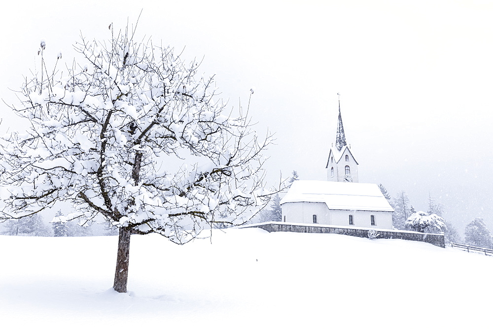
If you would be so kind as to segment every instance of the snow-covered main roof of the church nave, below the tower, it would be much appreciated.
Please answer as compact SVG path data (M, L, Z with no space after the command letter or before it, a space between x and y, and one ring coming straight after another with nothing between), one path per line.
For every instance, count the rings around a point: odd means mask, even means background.
M316 180L294 181L282 198L286 202L324 202L329 209L394 211L377 184Z

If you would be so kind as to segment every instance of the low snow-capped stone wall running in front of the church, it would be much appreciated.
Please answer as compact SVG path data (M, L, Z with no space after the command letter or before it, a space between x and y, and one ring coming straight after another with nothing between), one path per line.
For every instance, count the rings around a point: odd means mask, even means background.
M268 232L300 232L300 233L334 233L344 234L357 237L368 237L366 228L349 228L344 226L327 226L327 225L307 225L307 224L290 224L282 222L266 222L259 224L244 225L241 228L260 228ZM402 239L411 241L422 241L431 243L437 247L445 248L445 238L442 234L426 234L413 231L403 230L375 230L379 234L377 239Z

